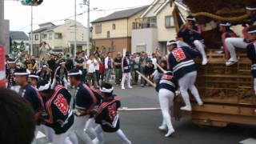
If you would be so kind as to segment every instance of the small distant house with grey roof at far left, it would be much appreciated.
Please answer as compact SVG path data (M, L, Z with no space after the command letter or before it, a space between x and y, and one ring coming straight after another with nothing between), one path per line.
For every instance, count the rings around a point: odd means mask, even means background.
M11 44L16 42L18 48L21 46L21 43L24 42L25 50L29 51L30 49L29 37L23 31L10 31L10 42ZM10 51L12 51L11 47Z

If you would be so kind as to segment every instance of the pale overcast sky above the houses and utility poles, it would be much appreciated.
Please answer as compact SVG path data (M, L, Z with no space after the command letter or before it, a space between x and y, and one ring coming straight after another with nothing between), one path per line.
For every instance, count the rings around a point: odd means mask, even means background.
M98 8L104 11L90 12L90 22L96 18L106 16L117 10L128 7L150 5L154 0L90 0L91 10ZM82 0L77 0L77 13L87 10L86 6L80 6ZM118 9L117 9L118 8ZM120 9L119 9L120 8ZM34 30L38 28L38 23L54 22L63 18L74 16L74 0L44 0L41 6L34 7ZM87 25L87 14L77 17L78 22ZM30 6L22 6L21 2L5 0L5 18L10 19L10 30L30 31ZM74 17L72 18L74 19ZM54 22L62 24L63 21Z

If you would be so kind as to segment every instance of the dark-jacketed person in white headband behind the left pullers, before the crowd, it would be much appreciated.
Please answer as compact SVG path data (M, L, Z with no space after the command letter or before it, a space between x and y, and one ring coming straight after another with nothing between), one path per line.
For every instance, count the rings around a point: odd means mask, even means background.
M55 70L52 88L54 88L54 86L56 86L57 84L65 86L67 88L67 70L66 62L64 60L59 63L59 66Z

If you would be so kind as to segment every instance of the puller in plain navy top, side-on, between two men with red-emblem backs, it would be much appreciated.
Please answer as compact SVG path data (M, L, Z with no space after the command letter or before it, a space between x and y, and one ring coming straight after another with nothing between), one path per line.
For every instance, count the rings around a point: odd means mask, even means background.
M90 90L90 87L82 83L82 70L70 70L68 76L70 78L71 86L76 88L74 96L74 134L76 134L78 138L82 139L82 142L90 143L91 139L88 135L84 134L84 128L86 126L86 122L90 118L90 114L94 110L94 106L98 102L98 99L94 92ZM71 140L73 142L77 141L75 139Z

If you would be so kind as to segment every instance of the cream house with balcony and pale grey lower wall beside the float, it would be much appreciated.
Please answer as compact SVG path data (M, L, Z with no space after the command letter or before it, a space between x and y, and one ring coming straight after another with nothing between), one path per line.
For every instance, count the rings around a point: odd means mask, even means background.
M170 0L155 0L138 18L132 30L132 52L166 54L166 42L176 38L174 5Z

